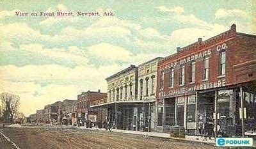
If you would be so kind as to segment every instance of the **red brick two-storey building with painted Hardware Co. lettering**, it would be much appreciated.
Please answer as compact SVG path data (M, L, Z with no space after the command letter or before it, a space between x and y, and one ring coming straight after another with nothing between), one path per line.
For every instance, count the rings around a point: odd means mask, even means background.
M177 48L159 62L157 74L159 131L179 125L187 134L202 134L200 123L211 121L233 135L255 121L256 36L237 33L235 24Z

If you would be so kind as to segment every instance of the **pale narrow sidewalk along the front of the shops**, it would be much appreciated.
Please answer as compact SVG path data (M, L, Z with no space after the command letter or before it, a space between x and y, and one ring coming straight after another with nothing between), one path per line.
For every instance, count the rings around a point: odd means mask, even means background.
M106 129L90 129L90 128L84 128L84 127L79 127L79 129L106 131ZM169 138L169 139L176 139L180 141L195 141L199 143L207 143L207 144L215 145L214 137L212 137L211 139L209 139L209 137L207 139L204 139L204 137L201 137L201 136L186 136L186 138L181 139L178 137L170 137L170 134L164 133L164 132L141 132L141 131L121 130L121 129L111 129L111 132L118 132L118 133L124 133L124 134L138 134L138 135L144 135L144 136L150 136L150 137L163 137L163 138Z

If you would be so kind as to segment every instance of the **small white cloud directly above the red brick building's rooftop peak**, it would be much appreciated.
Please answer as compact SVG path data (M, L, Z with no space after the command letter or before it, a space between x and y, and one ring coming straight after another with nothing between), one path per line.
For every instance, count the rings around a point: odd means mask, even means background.
M227 10L227 9L219 9L215 13L215 19L225 19L227 17L249 17L249 15L244 12L243 10L233 9L233 10Z

